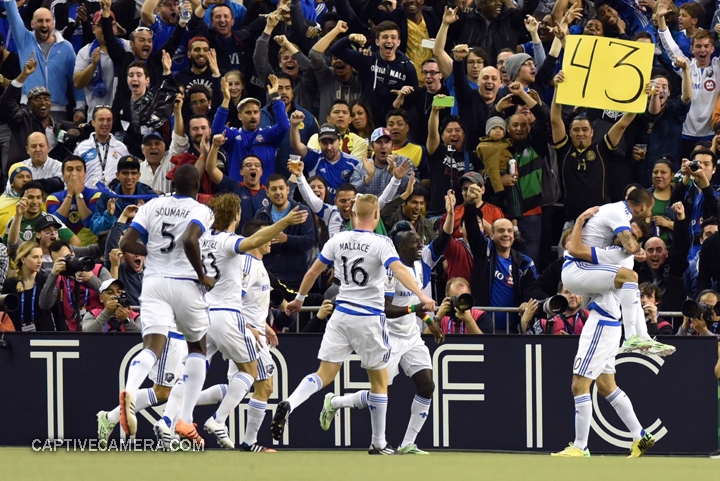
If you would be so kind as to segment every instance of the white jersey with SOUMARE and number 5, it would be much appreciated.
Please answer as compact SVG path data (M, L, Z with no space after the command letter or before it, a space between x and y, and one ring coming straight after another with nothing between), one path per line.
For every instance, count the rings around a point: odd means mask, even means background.
M214 221L212 210L190 197L162 196L140 206L130 227L146 240L145 278L197 280L195 270L185 256L182 236L191 223L205 232Z

